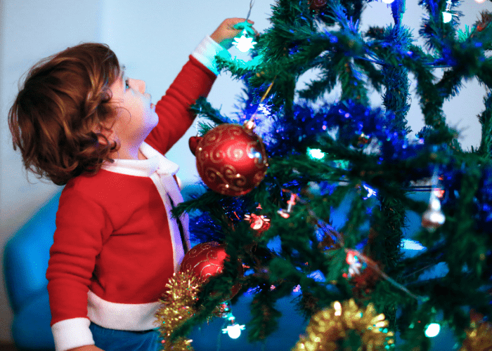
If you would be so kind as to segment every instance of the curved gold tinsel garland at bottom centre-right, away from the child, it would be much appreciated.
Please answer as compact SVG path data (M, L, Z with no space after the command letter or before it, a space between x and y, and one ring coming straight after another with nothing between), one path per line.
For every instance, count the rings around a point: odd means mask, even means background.
M350 330L361 336L359 350L387 350L394 345L394 333L387 329L384 314L375 314L373 304L365 310L359 308L353 299L332 303L332 308L313 315L293 351L335 351L339 350L338 340L347 337Z

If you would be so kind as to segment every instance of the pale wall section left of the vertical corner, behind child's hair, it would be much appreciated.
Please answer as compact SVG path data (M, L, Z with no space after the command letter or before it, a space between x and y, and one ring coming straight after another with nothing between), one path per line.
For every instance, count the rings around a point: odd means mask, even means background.
M1 214L0 248L40 204L57 190L54 185L28 183L18 152L13 152L7 126L7 113L15 96L19 78L39 58L51 55L79 41L101 39L97 0L0 1L0 169ZM3 267L2 267L3 270ZM0 288L0 340L11 340L11 310Z

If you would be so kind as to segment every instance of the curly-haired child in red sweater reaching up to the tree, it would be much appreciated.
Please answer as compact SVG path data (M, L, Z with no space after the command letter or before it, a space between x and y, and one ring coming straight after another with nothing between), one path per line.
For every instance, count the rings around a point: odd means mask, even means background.
M241 22L206 37L157 105L103 44L67 48L27 75L9 112L14 148L27 169L66 184L46 272L57 351L160 348L158 299L190 249L187 218L171 217L178 166L162 155L191 126L188 107L209 93L214 57Z

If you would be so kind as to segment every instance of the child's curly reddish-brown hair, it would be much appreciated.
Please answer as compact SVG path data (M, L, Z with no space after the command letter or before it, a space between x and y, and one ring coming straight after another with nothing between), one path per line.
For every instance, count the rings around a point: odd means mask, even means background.
M28 171L56 185L95 174L117 150L101 133L115 119L109 86L118 79L115 53L86 43L39 61L27 72L8 112L13 148Z

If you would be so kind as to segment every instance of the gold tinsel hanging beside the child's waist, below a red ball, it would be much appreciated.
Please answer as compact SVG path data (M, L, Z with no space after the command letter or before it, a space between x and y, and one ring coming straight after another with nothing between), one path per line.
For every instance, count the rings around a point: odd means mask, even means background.
M170 337L181 324L195 314L194 305L203 283L201 278L186 272L174 274L169 279L166 285L168 290L161 299L162 307L155 314L163 338L162 350L193 351L193 340L179 337L171 342Z

